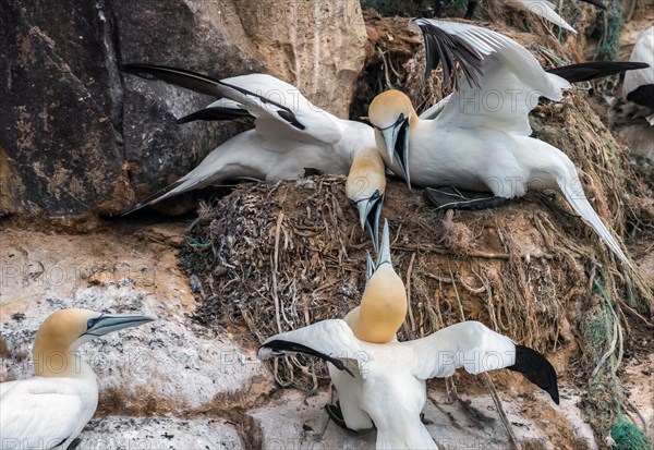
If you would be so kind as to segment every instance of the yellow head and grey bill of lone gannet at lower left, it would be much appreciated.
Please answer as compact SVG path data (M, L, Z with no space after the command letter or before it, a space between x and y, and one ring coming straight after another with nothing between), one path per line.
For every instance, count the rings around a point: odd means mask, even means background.
M33 349L35 374L74 375L75 364L69 364L66 360L80 345L98 336L153 320L150 317L132 314L101 314L80 308L60 309L43 323L36 335ZM53 358L57 360L57 364L51 361Z

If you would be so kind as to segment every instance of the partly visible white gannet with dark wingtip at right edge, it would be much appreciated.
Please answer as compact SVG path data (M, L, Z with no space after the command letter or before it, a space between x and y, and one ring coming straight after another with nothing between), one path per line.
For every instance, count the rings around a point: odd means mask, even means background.
M650 68L625 74L622 96L644 107L637 115L644 117L650 125L654 125L654 25L639 36L629 60L646 62Z

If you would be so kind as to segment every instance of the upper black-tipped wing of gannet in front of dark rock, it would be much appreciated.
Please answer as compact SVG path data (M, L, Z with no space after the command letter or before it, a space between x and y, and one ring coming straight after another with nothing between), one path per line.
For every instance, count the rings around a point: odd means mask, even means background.
M335 143L341 138L336 118L311 104L295 87L267 74L250 74L225 80L184 69L150 64L122 68L146 78L158 78L214 97L227 97L240 104L257 119L257 132L280 134L280 129L298 137ZM284 137L288 138L288 137Z

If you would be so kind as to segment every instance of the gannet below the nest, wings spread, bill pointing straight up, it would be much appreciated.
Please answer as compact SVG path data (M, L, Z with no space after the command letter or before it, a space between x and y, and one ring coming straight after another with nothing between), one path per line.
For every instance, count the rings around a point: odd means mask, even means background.
M258 357L303 353L329 362L339 406L327 411L352 430L377 427L377 449L436 449L420 418L426 402L425 380L449 377L459 367L471 374L498 368L520 372L558 404L552 364L538 352L479 321L398 342L396 333L407 314L407 296L390 264L387 223L379 252L359 308L344 319L323 320L272 336L261 346ZM370 260L368 256L368 273Z

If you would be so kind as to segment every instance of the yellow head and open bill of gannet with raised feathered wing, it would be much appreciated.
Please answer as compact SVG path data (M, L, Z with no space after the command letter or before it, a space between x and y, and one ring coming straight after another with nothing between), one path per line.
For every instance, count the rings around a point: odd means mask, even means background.
M383 157L388 158L390 165L397 158L409 187L409 133L411 121L415 120L415 117L409 97L395 89L379 94L368 109L368 119L375 127L377 149Z

